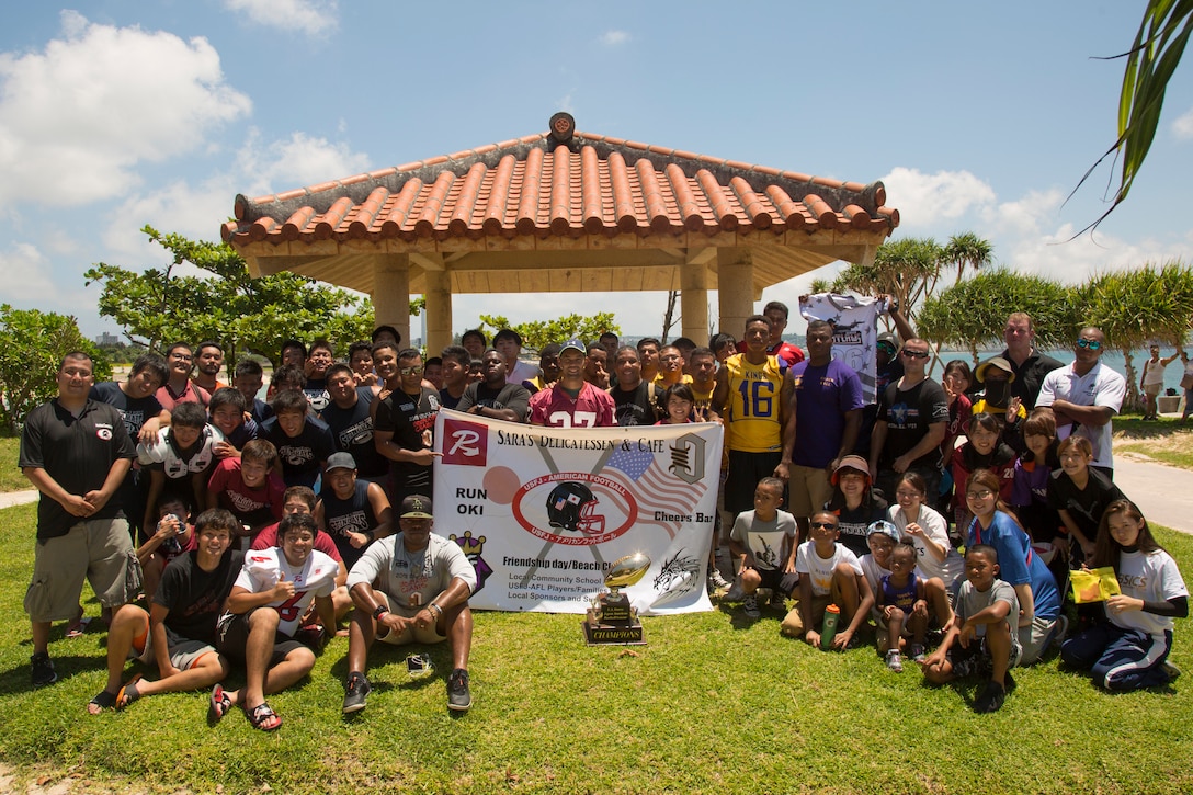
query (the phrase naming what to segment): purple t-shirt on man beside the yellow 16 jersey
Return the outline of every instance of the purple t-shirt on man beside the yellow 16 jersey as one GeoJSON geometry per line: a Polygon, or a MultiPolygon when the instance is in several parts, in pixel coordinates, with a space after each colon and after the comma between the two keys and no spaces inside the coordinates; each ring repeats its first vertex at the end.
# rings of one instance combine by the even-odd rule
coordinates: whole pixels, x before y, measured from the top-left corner
{"type": "MultiPolygon", "coordinates": [[[[792,463],[801,467],[827,467],[841,448],[845,414],[865,405],[861,378],[845,362],[828,364],[801,362],[791,368],[796,393],[796,446],[792,463]],[[799,429],[814,429],[801,433],[799,429]]],[[[859,420],[860,421],[860,420],[859,420]]]]}

